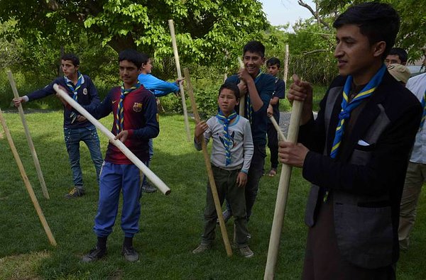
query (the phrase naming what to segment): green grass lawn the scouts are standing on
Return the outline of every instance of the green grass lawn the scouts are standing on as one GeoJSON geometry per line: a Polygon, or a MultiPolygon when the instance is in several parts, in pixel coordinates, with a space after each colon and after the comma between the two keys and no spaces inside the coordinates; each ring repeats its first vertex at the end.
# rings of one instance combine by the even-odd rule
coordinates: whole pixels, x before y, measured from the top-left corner
{"type": "MultiPolygon", "coordinates": [[[[154,140],[151,168],[172,192],[164,196],[157,191],[143,194],[141,198],[141,232],[134,240],[140,261],[129,264],[121,257],[124,237],[119,217],[108,240],[107,257],[82,264],[82,255],[96,242],[92,227],[98,196],[87,147],[81,145],[87,194],[67,200],[64,194],[72,186],[72,175],[63,142],[62,111],[26,115],[50,194],[50,200],[46,200],[18,114],[4,113],[4,117],[58,246],[52,247],[48,242],[4,137],[0,140],[0,279],[263,279],[279,175],[261,179],[249,223],[253,258],[244,259],[237,254],[226,257],[219,228],[213,250],[193,255],[191,251],[197,247],[202,233],[207,182],[202,152],[197,152],[192,142],[186,141],[182,116],[160,116],[160,135],[154,140]]],[[[111,121],[109,116],[102,123],[110,128],[111,121]]],[[[100,137],[104,154],[107,138],[100,137]]],[[[268,169],[269,157],[266,162],[268,169]]],[[[307,232],[303,214],[308,189],[300,169],[295,169],[276,279],[300,279],[307,232]]],[[[401,255],[398,263],[398,279],[426,279],[426,261],[422,255],[426,248],[425,218],[423,192],[410,250],[401,255]]],[[[230,238],[232,228],[229,223],[230,238]]]]}

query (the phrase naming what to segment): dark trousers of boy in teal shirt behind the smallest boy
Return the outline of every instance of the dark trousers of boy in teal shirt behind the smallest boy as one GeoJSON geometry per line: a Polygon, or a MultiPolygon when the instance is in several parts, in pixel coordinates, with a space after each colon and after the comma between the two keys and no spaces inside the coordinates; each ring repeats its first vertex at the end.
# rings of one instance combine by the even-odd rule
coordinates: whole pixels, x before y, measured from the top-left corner
{"type": "MultiPolygon", "coordinates": [[[[259,189],[259,181],[263,174],[263,164],[265,164],[266,148],[264,145],[254,145],[253,157],[251,158],[251,164],[249,174],[247,174],[246,184],[246,211],[247,220],[251,216],[251,208],[253,208],[254,201],[259,189]]],[[[227,198],[226,198],[227,201],[227,198]]],[[[232,213],[231,206],[228,201],[226,202],[226,208],[232,213]]],[[[234,215],[234,213],[232,213],[234,215]]]]}

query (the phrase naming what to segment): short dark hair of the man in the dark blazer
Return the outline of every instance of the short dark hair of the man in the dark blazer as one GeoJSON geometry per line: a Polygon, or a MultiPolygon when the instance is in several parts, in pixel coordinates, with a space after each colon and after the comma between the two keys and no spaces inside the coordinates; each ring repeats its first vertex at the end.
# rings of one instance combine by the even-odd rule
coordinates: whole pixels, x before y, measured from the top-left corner
{"type": "Polygon", "coordinates": [[[350,6],[337,17],[333,27],[340,28],[345,24],[358,26],[361,34],[368,38],[370,45],[385,41],[386,48],[382,56],[382,60],[384,60],[395,44],[400,27],[400,17],[389,4],[368,2],[350,6]]]}

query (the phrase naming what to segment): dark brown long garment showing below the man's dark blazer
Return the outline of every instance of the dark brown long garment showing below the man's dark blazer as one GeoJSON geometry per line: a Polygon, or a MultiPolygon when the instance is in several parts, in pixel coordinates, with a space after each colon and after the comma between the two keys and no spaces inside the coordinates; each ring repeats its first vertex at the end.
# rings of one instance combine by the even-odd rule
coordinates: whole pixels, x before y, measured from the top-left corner
{"type": "Polygon", "coordinates": [[[393,266],[366,269],[346,261],[339,252],[334,233],[332,194],[321,203],[315,225],[307,233],[303,280],[394,280],[393,266]]]}

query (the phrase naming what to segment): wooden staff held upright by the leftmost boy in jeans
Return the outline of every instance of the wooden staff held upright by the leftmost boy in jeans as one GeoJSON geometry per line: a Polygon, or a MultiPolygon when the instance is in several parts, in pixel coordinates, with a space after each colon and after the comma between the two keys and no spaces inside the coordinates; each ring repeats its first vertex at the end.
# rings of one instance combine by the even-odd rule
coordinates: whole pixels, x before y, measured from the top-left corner
{"type": "MultiPolygon", "coordinates": [[[[13,75],[11,71],[7,71],[7,77],[9,78],[9,83],[11,84],[11,87],[12,87],[13,96],[15,96],[16,99],[18,99],[19,98],[18,89],[16,89],[15,79],[13,79],[13,75]]],[[[40,162],[38,161],[37,152],[35,152],[33,139],[31,138],[30,130],[28,129],[28,125],[26,123],[25,115],[23,114],[23,108],[21,104],[19,104],[18,111],[19,111],[19,115],[21,116],[23,130],[25,130],[28,146],[30,147],[31,155],[33,156],[35,170],[37,171],[38,181],[40,181],[41,190],[43,191],[43,196],[49,199],[48,188],[46,187],[46,183],[44,181],[43,172],[41,172],[40,162]]]]}

